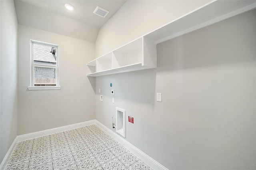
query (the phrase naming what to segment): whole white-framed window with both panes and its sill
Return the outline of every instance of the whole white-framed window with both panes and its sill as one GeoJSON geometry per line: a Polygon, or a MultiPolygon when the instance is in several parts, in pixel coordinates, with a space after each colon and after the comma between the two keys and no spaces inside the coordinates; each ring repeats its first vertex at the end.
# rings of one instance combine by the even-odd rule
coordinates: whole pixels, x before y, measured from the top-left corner
{"type": "Polygon", "coordinates": [[[58,45],[30,40],[31,79],[29,90],[60,89],[58,45]]]}

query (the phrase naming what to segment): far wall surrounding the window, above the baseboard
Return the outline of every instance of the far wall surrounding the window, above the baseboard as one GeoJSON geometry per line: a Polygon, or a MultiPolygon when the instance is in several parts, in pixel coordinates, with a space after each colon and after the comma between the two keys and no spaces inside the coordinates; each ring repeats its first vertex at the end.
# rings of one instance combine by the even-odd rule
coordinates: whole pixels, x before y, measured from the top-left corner
{"type": "Polygon", "coordinates": [[[95,44],[18,25],[18,135],[95,119],[95,44]],[[59,45],[60,90],[29,91],[30,39],[59,45]]]}

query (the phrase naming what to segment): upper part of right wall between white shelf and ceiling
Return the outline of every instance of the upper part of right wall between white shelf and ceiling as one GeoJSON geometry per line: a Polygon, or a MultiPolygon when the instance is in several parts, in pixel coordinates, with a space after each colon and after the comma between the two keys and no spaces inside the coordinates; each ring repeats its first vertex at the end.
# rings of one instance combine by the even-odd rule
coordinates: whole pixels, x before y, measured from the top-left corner
{"type": "Polygon", "coordinates": [[[100,28],[95,54],[100,57],[163,25],[206,5],[211,0],[128,0],[100,28]]]}

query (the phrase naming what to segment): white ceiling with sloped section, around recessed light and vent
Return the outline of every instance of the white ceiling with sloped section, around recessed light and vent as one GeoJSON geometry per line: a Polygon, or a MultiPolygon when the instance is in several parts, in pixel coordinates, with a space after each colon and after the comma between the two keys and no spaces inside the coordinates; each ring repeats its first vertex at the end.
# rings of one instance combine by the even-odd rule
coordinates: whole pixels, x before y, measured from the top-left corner
{"type": "Polygon", "coordinates": [[[127,0],[14,0],[18,24],[96,42],[100,28],[127,0]],[[74,11],[64,5],[71,4],[74,11]],[[102,18],[97,6],[109,11],[102,18]]]}

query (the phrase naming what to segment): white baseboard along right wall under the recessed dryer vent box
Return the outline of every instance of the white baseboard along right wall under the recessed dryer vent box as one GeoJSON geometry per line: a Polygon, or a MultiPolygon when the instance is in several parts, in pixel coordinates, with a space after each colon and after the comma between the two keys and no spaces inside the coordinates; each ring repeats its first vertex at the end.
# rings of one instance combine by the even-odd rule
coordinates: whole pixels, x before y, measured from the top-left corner
{"type": "Polygon", "coordinates": [[[168,170],[166,167],[162,166],[162,164],[160,164],[159,162],[157,162],[156,160],[154,160],[153,158],[151,158],[150,156],[148,156],[147,154],[145,154],[144,152],[136,148],[130,142],[127,142],[127,140],[125,140],[124,138],[122,138],[121,136],[119,136],[118,134],[116,134],[115,132],[113,132],[112,130],[110,130],[109,128],[107,128],[105,125],[103,125],[97,120],[96,120],[96,125],[102,128],[102,130],[104,130],[106,133],[112,136],[112,138],[120,142],[125,148],[130,150],[134,155],[136,155],[138,158],[140,158],[143,162],[148,164],[148,166],[150,166],[154,170],[168,170]]]}

